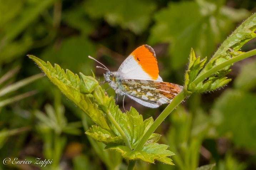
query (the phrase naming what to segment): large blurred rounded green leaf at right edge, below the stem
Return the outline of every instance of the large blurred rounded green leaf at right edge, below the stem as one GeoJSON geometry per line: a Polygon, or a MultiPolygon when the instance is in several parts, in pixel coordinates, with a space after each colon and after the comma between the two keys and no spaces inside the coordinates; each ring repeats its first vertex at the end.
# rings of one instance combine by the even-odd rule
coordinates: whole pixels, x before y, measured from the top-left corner
{"type": "Polygon", "coordinates": [[[214,103],[212,118],[221,136],[232,138],[236,147],[256,150],[256,96],[226,90],[214,103]]]}

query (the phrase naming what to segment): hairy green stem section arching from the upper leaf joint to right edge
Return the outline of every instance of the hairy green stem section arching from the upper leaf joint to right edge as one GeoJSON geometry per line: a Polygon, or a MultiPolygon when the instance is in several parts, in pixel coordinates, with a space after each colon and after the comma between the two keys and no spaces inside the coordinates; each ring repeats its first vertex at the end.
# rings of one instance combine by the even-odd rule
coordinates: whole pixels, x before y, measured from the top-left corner
{"type": "Polygon", "coordinates": [[[198,84],[200,83],[201,81],[204,81],[207,77],[211,76],[212,74],[214,74],[216,71],[219,71],[225,67],[227,67],[228,65],[230,64],[233,64],[233,63],[236,63],[236,62],[239,62],[240,60],[242,59],[245,59],[247,57],[251,57],[253,55],[256,55],[256,49],[253,49],[251,51],[248,51],[246,53],[242,53],[240,55],[237,55],[236,57],[233,57],[229,60],[226,60],[225,62],[219,64],[219,65],[216,65],[214,67],[212,67],[210,70],[206,71],[204,74],[202,75],[199,75],[194,81],[193,83],[194,84],[198,84]]]}

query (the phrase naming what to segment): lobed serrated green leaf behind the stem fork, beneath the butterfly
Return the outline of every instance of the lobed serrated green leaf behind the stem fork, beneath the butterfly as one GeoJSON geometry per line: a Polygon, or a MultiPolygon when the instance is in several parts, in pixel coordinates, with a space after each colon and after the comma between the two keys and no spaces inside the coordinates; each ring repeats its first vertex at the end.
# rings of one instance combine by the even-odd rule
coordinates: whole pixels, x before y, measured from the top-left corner
{"type": "MultiPolygon", "coordinates": [[[[101,107],[104,106],[101,105],[101,107]]],[[[116,122],[120,125],[126,136],[129,138],[131,147],[135,148],[141,137],[146,133],[147,129],[153,123],[152,117],[143,121],[142,116],[139,115],[139,113],[132,107],[130,112],[127,111],[126,113],[122,113],[120,109],[114,105],[114,100],[112,99],[110,100],[110,105],[108,108],[110,108],[111,115],[115,118],[116,122]]],[[[101,109],[104,110],[107,108],[101,109]]],[[[114,124],[109,119],[107,119],[107,122],[109,123],[112,132],[106,131],[100,127],[94,127],[90,128],[86,134],[107,145],[113,143],[123,144],[124,140],[121,138],[114,124]]],[[[160,137],[160,134],[153,133],[147,140],[146,144],[155,143],[160,139],[160,137]]]]}

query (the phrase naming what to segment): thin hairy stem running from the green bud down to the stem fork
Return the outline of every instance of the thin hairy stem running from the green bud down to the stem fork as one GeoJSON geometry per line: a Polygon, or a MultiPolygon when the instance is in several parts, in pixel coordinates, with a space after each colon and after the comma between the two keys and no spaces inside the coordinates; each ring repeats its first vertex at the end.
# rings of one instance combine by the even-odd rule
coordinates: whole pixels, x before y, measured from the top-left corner
{"type": "MultiPolygon", "coordinates": [[[[99,102],[102,105],[104,105],[102,100],[100,99],[99,95],[95,91],[92,94],[95,97],[95,99],[97,100],[97,102],[99,102]]],[[[110,121],[114,124],[115,128],[117,129],[117,131],[120,133],[122,139],[125,142],[125,145],[131,149],[131,145],[130,145],[128,137],[126,136],[126,134],[123,131],[123,129],[116,122],[115,118],[111,115],[111,112],[109,111],[109,109],[107,107],[104,107],[103,111],[104,111],[104,113],[106,113],[106,116],[110,119],[110,121]]]]}

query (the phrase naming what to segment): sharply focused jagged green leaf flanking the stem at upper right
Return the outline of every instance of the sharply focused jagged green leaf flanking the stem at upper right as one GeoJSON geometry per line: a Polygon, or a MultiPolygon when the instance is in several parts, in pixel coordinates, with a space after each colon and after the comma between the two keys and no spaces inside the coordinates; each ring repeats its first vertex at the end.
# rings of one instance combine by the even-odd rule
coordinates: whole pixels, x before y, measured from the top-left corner
{"type": "MultiPolygon", "coordinates": [[[[204,92],[204,91],[212,91],[219,87],[222,87],[229,83],[231,79],[227,79],[224,77],[226,74],[230,73],[230,65],[226,66],[225,68],[216,71],[215,73],[211,74],[208,78],[206,77],[205,80],[201,82],[196,82],[197,77],[200,77],[207,73],[213,67],[226,62],[227,60],[231,59],[232,57],[236,57],[237,55],[242,54],[243,52],[238,51],[246,42],[251,40],[252,38],[256,37],[254,31],[256,30],[256,14],[253,14],[247,20],[245,20],[230,36],[227,38],[224,43],[220,46],[214,56],[211,58],[209,63],[202,69],[199,73],[197,69],[197,65],[199,59],[195,57],[194,52],[191,51],[190,54],[190,64],[189,69],[185,75],[185,89],[189,90],[190,92],[204,92]],[[194,68],[193,68],[194,67],[194,68]],[[196,73],[199,73],[198,75],[196,73]],[[194,81],[195,80],[195,81],[194,81]],[[192,82],[193,81],[193,82],[192,82]]],[[[203,67],[203,63],[202,63],[203,67]]],[[[199,65],[199,68],[202,68],[199,65]]],[[[211,73],[211,72],[210,72],[211,73]]]]}

